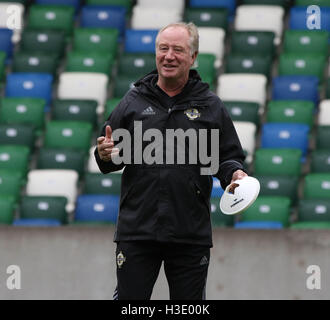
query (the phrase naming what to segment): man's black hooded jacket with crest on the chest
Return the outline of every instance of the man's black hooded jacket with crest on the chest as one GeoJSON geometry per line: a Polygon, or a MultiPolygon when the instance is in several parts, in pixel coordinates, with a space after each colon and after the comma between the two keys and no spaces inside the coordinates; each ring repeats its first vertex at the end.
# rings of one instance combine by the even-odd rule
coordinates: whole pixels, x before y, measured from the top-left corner
{"type": "MultiPolygon", "coordinates": [[[[101,135],[108,124],[113,131],[125,128],[131,133],[133,144],[134,121],[142,121],[143,133],[152,128],[163,134],[165,129],[207,129],[210,152],[211,129],[218,129],[219,170],[214,176],[225,188],[232,173],[243,169],[244,153],[221,100],[201,82],[196,71],[190,71],[185,88],[173,98],[156,85],[157,79],[157,72],[153,71],[137,81],[135,88],[110,114],[101,135]]],[[[148,144],[150,142],[143,142],[143,150],[148,144]]],[[[165,143],[161,148],[165,159],[165,143]]],[[[185,140],[185,154],[188,159],[188,139],[185,140]]],[[[103,173],[124,167],[124,164],[102,161],[97,149],[95,158],[103,173]]],[[[199,161],[195,164],[178,164],[177,161],[175,164],[133,164],[133,147],[131,159],[132,164],[126,164],[122,176],[115,241],[156,240],[212,246],[212,176],[200,174],[203,165],[199,161]]]]}

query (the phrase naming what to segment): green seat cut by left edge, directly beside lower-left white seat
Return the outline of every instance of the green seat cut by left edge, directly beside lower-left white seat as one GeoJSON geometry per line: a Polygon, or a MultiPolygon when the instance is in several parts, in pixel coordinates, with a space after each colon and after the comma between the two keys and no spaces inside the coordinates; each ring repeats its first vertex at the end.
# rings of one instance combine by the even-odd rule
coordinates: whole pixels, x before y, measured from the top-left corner
{"type": "MultiPolygon", "coordinates": [[[[0,170],[0,196],[13,198],[15,203],[21,196],[24,180],[18,171],[0,170]]],[[[1,211],[0,211],[1,212],[1,211]]]]}

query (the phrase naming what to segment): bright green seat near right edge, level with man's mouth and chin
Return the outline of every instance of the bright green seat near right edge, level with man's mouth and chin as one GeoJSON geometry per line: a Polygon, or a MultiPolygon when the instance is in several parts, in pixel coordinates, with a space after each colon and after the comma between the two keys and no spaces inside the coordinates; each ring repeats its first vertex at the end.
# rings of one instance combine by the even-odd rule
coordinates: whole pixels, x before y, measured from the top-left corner
{"type": "Polygon", "coordinates": [[[279,58],[279,75],[316,76],[323,80],[326,56],[311,53],[282,53],[279,58]]]}

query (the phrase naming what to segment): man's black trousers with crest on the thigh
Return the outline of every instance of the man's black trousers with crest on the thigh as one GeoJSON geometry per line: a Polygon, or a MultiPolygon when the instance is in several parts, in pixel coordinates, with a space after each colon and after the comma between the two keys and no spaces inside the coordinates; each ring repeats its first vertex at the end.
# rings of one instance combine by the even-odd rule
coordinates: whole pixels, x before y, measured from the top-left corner
{"type": "Polygon", "coordinates": [[[164,262],[171,300],[205,299],[210,248],[205,246],[122,241],[117,243],[114,299],[149,300],[164,262]]]}

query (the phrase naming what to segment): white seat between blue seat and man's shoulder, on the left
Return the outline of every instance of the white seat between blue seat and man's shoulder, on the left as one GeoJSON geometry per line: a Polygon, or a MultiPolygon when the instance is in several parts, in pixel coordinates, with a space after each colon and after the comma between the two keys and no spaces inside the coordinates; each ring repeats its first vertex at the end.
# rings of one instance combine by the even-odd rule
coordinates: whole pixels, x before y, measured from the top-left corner
{"type": "Polygon", "coordinates": [[[93,72],[62,72],[59,76],[58,99],[96,100],[97,112],[103,113],[107,98],[108,76],[93,72]]]}

